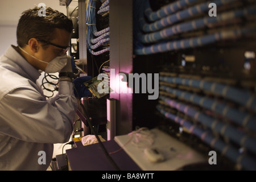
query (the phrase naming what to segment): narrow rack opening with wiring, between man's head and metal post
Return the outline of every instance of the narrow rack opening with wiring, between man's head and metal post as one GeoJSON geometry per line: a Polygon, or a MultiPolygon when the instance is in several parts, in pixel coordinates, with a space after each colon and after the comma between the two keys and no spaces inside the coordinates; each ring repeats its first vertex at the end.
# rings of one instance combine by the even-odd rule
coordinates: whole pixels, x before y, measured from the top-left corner
{"type": "Polygon", "coordinates": [[[86,44],[88,49],[88,67],[92,68],[88,74],[97,76],[102,71],[100,65],[109,60],[109,10],[105,7],[109,1],[86,1],[86,44]],[[97,13],[102,10],[102,13],[97,13]],[[104,12],[103,12],[104,11],[104,12]]]}

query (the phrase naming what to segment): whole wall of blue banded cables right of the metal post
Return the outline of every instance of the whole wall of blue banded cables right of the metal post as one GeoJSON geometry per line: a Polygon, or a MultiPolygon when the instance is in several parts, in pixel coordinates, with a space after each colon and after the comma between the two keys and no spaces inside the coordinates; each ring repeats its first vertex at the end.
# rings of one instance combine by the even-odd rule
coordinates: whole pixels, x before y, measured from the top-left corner
{"type": "MultiPolygon", "coordinates": [[[[133,1],[133,48],[136,70],[159,72],[160,125],[181,138],[177,124],[234,166],[255,170],[255,1],[158,3],[133,1]],[[217,16],[208,14],[209,3],[217,16]]],[[[142,114],[139,102],[134,113],[142,114]]]]}

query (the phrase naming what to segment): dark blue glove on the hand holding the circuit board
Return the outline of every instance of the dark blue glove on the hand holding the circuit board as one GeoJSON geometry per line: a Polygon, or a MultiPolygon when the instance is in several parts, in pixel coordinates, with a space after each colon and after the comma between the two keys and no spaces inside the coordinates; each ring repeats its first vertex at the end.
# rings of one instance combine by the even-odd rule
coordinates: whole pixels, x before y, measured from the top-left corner
{"type": "Polygon", "coordinates": [[[92,80],[92,77],[81,76],[73,80],[75,85],[74,93],[77,98],[92,96],[92,93],[88,90],[88,87],[84,85],[84,82],[88,80],[92,80]]]}

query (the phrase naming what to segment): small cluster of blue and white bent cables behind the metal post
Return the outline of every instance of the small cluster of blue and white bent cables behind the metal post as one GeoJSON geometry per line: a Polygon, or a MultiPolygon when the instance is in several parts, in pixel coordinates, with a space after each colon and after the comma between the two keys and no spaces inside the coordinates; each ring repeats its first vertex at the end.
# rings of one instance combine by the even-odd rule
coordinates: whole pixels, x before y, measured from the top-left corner
{"type": "MultiPolygon", "coordinates": [[[[106,2],[107,1],[103,2],[103,4],[106,4],[106,2]]],[[[98,50],[96,52],[94,51],[100,46],[108,45],[110,40],[109,27],[105,28],[104,30],[97,31],[95,0],[88,1],[88,5],[86,8],[86,25],[87,25],[86,39],[87,39],[87,47],[89,49],[89,52],[92,53],[92,55],[100,55],[104,52],[108,52],[110,50],[109,46],[101,50],[98,50]]]]}

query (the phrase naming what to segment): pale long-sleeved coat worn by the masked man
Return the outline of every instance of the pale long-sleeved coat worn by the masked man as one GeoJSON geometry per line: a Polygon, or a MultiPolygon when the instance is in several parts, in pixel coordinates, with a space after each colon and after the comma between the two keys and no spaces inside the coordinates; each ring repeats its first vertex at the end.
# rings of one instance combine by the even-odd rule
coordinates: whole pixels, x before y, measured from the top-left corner
{"type": "Polygon", "coordinates": [[[78,105],[72,82],[61,81],[59,94],[47,100],[39,76],[13,46],[0,57],[0,170],[46,170],[53,143],[72,134],[78,105]]]}

